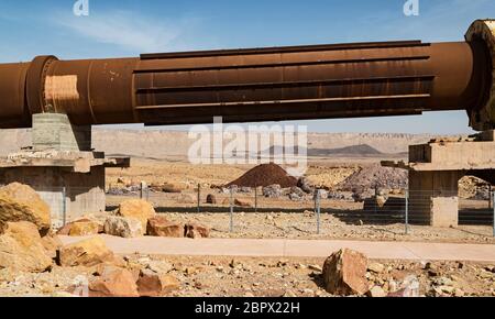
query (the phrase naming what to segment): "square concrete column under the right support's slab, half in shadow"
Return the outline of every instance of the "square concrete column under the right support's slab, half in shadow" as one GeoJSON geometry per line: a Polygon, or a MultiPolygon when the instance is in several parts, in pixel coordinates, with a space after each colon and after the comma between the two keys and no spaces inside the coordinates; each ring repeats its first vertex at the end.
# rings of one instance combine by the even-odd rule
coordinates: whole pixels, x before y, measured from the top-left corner
{"type": "Polygon", "coordinates": [[[459,223],[459,170],[409,170],[409,215],[414,223],[453,227],[459,223]]]}

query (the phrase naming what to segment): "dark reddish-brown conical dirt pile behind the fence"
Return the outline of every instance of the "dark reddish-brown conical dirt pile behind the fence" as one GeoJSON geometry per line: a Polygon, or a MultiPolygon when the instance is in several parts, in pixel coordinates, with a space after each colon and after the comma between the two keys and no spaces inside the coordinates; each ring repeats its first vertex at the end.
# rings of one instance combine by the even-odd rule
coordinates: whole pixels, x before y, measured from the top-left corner
{"type": "Polygon", "coordinates": [[[297,186],[297,178],[288,175],[280,166],[271,163],[254,167],[240,178],[229,183],[227,187],[232,185],[239,187],[265,187],[275,184],[280,185],[282,188],[294,187],[297,186]]]}

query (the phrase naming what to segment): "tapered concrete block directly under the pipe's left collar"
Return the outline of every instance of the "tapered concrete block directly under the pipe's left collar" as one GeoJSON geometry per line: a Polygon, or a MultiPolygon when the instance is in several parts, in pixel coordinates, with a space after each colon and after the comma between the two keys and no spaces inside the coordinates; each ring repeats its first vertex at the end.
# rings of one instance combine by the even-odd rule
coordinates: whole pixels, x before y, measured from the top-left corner
{"type": "Polygon", "coordinates": [[[34,151],[91,151],[91,127],[75,127],[66,114],[33,116],[34,151]]]}

